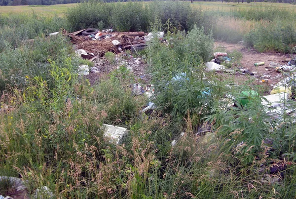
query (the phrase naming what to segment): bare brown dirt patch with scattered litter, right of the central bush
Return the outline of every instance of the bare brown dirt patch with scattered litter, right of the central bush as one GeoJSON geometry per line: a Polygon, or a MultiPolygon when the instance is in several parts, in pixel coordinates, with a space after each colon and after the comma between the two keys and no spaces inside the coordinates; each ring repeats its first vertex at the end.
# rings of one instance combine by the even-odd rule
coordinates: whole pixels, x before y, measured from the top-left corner
{"type": "MultiPolygon", "coordinates": [[[[240,67],[243,69],[248,69],[251,72],[258,72],[258,76],[268,75],[271,76],[268,78],[269,84],[276,84],[279,82],[283,76],[281,73],[277,72],[273,68],[268,67],[270,62],[275,62],[280,65],[286,64],[291,60],[291,55],[283,53],[259,53],[254,49],[247,49],[243,44],[240,43],[226,43],[226,42],[215,42],[215,48],[224,48],[226,52],[232,52],[236,50],[242,53],[242,59],[240,61],[240,67]],[[257,62],[264,62],[263,66],[254,66],[257,62]]],[[[247,80],[246,75],[235,75],[237,80],[247,80]]],[[[266,79],[266,78],[263,78],[266,79]]]]}

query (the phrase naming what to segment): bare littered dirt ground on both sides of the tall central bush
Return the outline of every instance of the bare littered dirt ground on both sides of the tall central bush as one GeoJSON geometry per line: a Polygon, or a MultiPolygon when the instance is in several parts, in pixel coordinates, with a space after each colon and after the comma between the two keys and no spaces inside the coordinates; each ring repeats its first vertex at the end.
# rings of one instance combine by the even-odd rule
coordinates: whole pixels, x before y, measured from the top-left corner
{"type": "MultiPolygon", "coordinates": [[[[234,50],[242,53],[242,59],[239,62],[238,68],[248,69],[250,72],[258,72],[254,77],[260,78],[260,76],[268,75],[270,78],[261,78],[262,80],[268,80],[269,85],[274,85],[279,82],[284,77],[281,73],[276,72],[273,68],[265,68],[269,65],[270,62],[275,62],[280,65],[284,65],[289,60],[291,60],[291,55],[283,54],[283,53],[259,53],[253,49],[247,49],[243,44],[233,44],[226,42],[215,42],[215,48],[224,48],[226,52],[232,52],[234,50]],[[264,62],[265,65],[256,67],[254,63],[264,62]]],[[[123,59],[123,55],[116,55],[116,63],[110,64],[106,59],[102,58],[100,63],[96,63],[95,67],[100,71],[99,73],[90,73],[85,78],[89,79],[90,84],[93,85],[100,79],[102,75],[108,74],[114,69],[116,69],[116,65],[121,65],[124,61],[124,65],[130,67],[130,70],[134,73],[136,78],[142,79],[144,81],[148,81],[148,74],[146,73],[147,65],[144,63],[142,59],[139,62],[136,62],[136,58],[130,58],[128,60],[123,59]],[[118,61],[119,60],[119,61],[118,61]]],[[[228,76],[229,74],[223,74],[228,76]]],[[[234,80],[236,83],[242,83],[249,79],[248,75],[244,74],[235,74],[234,80]]],[[[148,83],[148,82],[147,82],[148,83]]]]}

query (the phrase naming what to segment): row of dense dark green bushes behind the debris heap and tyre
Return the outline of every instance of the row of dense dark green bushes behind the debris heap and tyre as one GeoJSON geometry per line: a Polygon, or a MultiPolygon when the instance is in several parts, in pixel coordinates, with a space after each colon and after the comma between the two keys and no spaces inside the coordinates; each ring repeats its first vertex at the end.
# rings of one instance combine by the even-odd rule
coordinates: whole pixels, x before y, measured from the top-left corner
{"type": "Polygon", "coordinates": [[[74,30],[113,27],[116,31],[148,31],[150,23],[165,24],[168,19],[180,30],[191,30],[194,24],[206,27],[201,10],[181,1],[83,2],[68,10],[67,19],[74,30]]]}

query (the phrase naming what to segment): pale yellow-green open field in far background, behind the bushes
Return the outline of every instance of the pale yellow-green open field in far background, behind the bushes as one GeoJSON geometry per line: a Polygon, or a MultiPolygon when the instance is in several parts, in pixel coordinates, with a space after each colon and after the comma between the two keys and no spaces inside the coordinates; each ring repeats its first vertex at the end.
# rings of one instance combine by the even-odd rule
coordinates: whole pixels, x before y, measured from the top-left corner
{"type": "MultiPolygon", "coordinates": [[[[188,2],[191,4],[190,2],[188,2]]],[[[20,14],[26,13],[30,14],[33,11],[38,15],[47,16],[63,16],[69,7],[73,7],[75,3],[70,4],[59,4],[59,5],[18,5],[18,6],[0,6],[0,13],[3,15],[20,14]]],[[[296,5],[288,3],[265,3],[265,2],[254,2],[252,3],[233,3],[233,2],[210,2],[210,1],[198,1],[193,2],[192,6],[196,8],[201,8],[202,10],[219,10],[219,11],[231,11],[234,9],[250,9],[254,7],[262,8],[278,8],[285,9],[287,11],[296,11],[296,5]]]]}

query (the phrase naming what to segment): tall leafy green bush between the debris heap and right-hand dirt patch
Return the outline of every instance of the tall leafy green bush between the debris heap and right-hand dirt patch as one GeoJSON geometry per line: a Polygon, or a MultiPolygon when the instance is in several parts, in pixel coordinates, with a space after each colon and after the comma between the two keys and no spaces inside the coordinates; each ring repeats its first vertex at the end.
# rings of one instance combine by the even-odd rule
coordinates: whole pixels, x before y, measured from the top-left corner
{"type": "Polygon", "coordinates": [[[167,38],[168,46],[154,40],[148,52],[156,104],[173,115],[185,115],[210,103],[210,84],[202,80],[202,63],[210,58],[213,40],[196,27],[188,35],[179,32],[167,38]]]}

